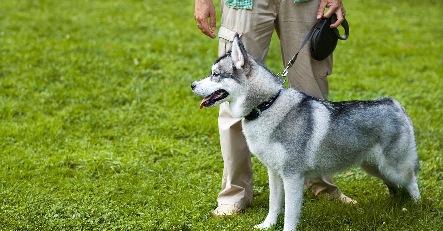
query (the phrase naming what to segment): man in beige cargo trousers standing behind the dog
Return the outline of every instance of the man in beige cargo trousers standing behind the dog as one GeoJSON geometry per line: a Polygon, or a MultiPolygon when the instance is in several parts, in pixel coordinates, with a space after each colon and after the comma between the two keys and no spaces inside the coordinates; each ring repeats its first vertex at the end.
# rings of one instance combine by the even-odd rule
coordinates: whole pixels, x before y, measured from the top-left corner
{"type": "MultiPolygon", "coordinates": [[[[337,14],[338,20],[331,27],[338,27],[346,14],[341,0],[222,0],[218,55],[222,56],[230,50],[237,32],[246,51],[264,63],[275,29],[280,38],[281,55],[286,67],[315,22],[322,16],[329,18],[333,13],[337,14]],[[323,15],[326,7],[329,10],[323,15]]],[[[212,0],[195,0],[194,16],[198,28],[214,39],[216,20],[212,0]]],[[[289,86],[315,98],[327,99],[327,75],[332,72],[332,55],[323,61],[316,61],[311,58],[309,47],[308,42],[289,71],[289,86]]],[[[218,128],[225,166],[222,191],[218,195],[219,206],[213,214],[234,216],[252,202],[253,174],[251,156],[241,130],[241,119],[232,116],[228,102],[220,105],[218,128]]],[[[305,187],[311,187],[315,195],[329,195],[331,199],[356,203],[343,195],[330,177],[307,180],[305,187]]]]}

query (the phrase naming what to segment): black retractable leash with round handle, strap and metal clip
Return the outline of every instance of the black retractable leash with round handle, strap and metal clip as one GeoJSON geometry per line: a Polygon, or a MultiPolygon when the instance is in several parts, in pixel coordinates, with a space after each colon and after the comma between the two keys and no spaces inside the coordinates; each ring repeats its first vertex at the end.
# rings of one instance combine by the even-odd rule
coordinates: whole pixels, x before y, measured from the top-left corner
{"type": "MultiPolygon", "coordinates": [[[[341,23],[342,27],[345,28],[345,34],[343,36],[340,36],[340,32],[337,28],[330,28],[329,26],[332,23],[335,23],[337,21],[337,15],[333,14],[329,19],[321,18],[319,19],[314,26],[311,27],[311,30],[307,33],[305,39],[303,40],[302,45],[300,46],[299,51],[295,53],[294,56],[292,56],[291,60],[288,62],[288,66],[282,71],[277,74],[277,76],[284,77],[284,82],[286,82],[286,75],[288,75],[289,69],[294,65],[295,60],[297,59],[297,56],[299,55],[299,52],[302,50],[304,45],[309,41],[309,38],[311,38],[311,56],[315,60],[323,60],[326,59],[327,56],[329,56],[332,51],[334,51],[335,46],[337,46],[337,40],[346,40],[349,37],[349,25],[348,21],[346,19],[343,20],[341,23]],[[336,38],[331,37],[331,33],[334,31],[336,38]],[[324,37],[329,37],[324,39],[324,37]],[[331,44],[326,44],[325,41],[330,41],[332,39],[331,44]],[[321,44],[323,43],[323,44],[321,44]],[[323,47],[320,47],[322,46],[323,47]],[[327,46],[327,47],[324,47],[327,46]],[[320,49],[319,49],[320,48],[320,49]],[[323,48],[323,49],[322,49],[323,48]]],[[[334,36],[335,37],[335,36],[334,36]]]]}

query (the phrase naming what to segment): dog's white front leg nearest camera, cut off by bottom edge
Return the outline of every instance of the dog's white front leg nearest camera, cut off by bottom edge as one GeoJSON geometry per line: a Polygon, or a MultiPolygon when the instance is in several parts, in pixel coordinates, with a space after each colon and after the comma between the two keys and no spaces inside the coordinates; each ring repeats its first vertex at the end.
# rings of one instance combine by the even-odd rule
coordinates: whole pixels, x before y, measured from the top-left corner
{"type": "Polygon", "coordinates": [[[299,223],[303,203],[304,177],[300,174],[283,176],[284,184],[284,228],[283,231],[295,230],[299,223]]]}

